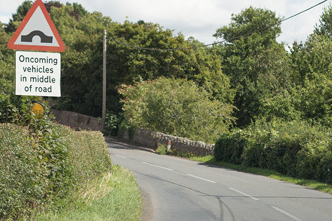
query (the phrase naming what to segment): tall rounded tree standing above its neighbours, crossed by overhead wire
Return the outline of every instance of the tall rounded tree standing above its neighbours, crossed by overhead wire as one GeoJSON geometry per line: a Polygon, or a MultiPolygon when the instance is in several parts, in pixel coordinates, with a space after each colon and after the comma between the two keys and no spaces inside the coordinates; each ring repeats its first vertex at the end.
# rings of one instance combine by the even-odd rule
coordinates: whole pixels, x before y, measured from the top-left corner
{"type": "Polygon", "coordinates": [[[274,12],[249,7],[239,15],[233,14],[231,19],[214,37],[229,39],[218,46],[218,51],[222,71],[230,77],[230,84],[236,90],[237,125],[242,127],[258,115],[265,97],[288,87],[290,61],[284,44],[276,41],[281,28],[280,24],[273,25],[280,21],[274,12]],[[251,32],[254,33],[247,35],[251,32]]]}

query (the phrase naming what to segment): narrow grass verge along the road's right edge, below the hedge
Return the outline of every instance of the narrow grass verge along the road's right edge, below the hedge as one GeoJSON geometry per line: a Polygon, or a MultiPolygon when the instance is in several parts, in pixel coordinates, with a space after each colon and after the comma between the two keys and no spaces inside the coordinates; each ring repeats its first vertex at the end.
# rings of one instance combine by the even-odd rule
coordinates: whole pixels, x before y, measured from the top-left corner
{"type": "Polygon", "coordinates": [[[254,167],[244,167],[242,165],[235,165],[235,164],[226,163],[223,161],[216,162],[214,156],[211,156],[211,155],[196,156],[192,153],[183,153],[183,152],[176,151],[176,150],[170,150],[167,154],[172,155],[172,156],[184,157],[184,158],[188,158],[190,160],[200,161],[200,162],[204,162],[204,163],[208,163],[208,164],[214,164],[214,165],[218,165],[218,166],[222,166],[222,167],[227,167],[227,168],[231,168],[231,169],[235,169],[235,170],[239,170],[239,171],[243,171],[243,172],[248,172],[248,173],[252,173],[252,174],[262,175],[262,176],[269,177],[272,179],[284,181],[284,182],[291,183],[291,184],[299,184],[302,186],[307,186],[307,187],[310,187],[310,188],[313,188],[313,189],[316,189],[316,190],[319,190],[322,192],[327,192],[327,193],[332,194],[332,185],[330,185],[330,184],[323,184],[323,183],[320,183],[320,182],[317,182],[314,180],[304,180],[304,179],[292,178],[292,177],[280,174],[273,170],[254,168],[254,167]]]}

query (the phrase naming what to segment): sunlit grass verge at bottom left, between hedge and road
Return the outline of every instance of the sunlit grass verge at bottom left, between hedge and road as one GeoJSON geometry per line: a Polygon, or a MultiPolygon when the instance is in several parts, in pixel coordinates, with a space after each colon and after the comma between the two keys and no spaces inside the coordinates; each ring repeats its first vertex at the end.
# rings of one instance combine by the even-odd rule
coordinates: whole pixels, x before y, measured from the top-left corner
{"type": "Polygon", "coordinates": [[[89,181],[75,204],[59,211],[34,214],[34,221],[139,221],[142,200],[134,176],[120,166],[89,181]]]}

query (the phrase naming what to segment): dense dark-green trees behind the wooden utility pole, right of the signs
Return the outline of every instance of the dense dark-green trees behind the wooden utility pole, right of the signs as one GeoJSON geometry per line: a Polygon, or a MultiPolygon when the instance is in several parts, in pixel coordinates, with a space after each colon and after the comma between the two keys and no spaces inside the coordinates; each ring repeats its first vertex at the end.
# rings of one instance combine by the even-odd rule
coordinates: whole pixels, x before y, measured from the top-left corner
{"type": "Polygon", "coordinates": [[[143,50],[145,48],[187,48],[202,45],[197,40],[163,30],[158,24],[138,21],[113,22],[99,12],[89,13],[80,5],[52,7],[51,18],[66,45],[62,53],[62,97],[56,109],[76,111],[91,116],[102,112],[102,33],[107,30],[107,109],[121,112],[119,85],[153,80],[159,76],[187,78],[206,87],[223,102],[232,102],[233,93],[225,91],[227,76],[221,73],[221,62],[215,53],[205,49],[175,51],[143,50]],[[71,11],[78,11],[76,19],[71,11]],[[124,44],[121,44],[117,41],[124,44]],[[225,85],[225,86],[224,86],[225,85]]]}

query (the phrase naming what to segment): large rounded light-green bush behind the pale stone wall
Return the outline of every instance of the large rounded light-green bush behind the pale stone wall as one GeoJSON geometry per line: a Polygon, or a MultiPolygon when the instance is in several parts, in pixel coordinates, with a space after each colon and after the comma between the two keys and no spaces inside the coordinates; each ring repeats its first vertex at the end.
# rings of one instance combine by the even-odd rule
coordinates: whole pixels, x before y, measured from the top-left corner
{"type": "Polygon", "coordinates": [[[191,140],[213,142],[232,125],[234,107],[210,100],[193,81],[159,78],[122,85],[123,127],[143,127],[191,140]]]}

